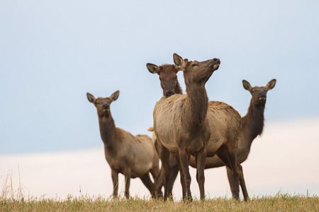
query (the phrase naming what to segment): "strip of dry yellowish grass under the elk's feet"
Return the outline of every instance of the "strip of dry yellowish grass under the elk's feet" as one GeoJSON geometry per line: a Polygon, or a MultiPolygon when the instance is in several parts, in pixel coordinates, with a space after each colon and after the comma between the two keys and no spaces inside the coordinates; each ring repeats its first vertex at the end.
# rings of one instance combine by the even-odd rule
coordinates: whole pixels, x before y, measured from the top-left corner
{"type": "Polygon", "coordinates": [[[0,197],[0,211],[319,211],[318,196],[257,196],[250,201],[206,199],[206,201],[167,201],[154,199],[104,199],[69,196],[56,199],[6,199],[0,197]]]}

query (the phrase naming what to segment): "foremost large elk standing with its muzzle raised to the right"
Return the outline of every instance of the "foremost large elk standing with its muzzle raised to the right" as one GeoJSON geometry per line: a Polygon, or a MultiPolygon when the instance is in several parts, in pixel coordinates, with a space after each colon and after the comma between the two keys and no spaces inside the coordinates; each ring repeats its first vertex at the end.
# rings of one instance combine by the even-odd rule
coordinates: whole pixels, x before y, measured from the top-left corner
{"type": "MultiPolygon", "coordinates": [[[[183,172],[186,170],[184,173],[181,172],[181,178],[184,177],[185,179],[187,199],[191,199],[189,189],[189,184],[191,182],[188,167],[189,157],[182,158],[181,155],[183,154],[181,154],[181,151],[184,151],[183,148],[185,148],[185,146],[186,149],[187,147],[189,149],[194,149],[194,146],[196,149],[199,143],[198,141],[201,141],[204,144],[208,143],[207,150],[204,149],[203,154],[192,153],[192,155],[197,156],[196,179],[200,187],[201,199],[203,199],[203,182],[205,178],[203,176],[203,167],[201,165],[206,159],[206,154],[208,154],[208,156],[217,154],[223,158],[224,163],[233,171],[235,181],[238,182],[238,180],[236,180],[238,179],[238,172],[235,152],[237,150],[237,140],[241,127],[240,114],[233,109],[233,107],[226,105],[223,102],[217,102],[216,104],[213,104],[212,102],[208,103],[208,97],[204,85],[206,81],[208,81],[208,78],[211,77],[213,71],[215,71],[216,68],[218,69],[220,64],[219,59],[212,59],[203,62],[187,61],[186,59],[181,59],[181,57],[177,54],[174,54],[174,63],[184,72],[187,95],[172,95],[166,99],[168,102],[167,105],[172,108],[171,111],[179,110],[177,114],[174,114],[174,112],[173,114],[169,114],[170,111],[165,108],[162,110],[163,108],[161,107],[165,107],[165,104],[159,104],[159,102],[162,100],[164,102],[165,97],[157,102],[154,110],[155,134],[164,147],[168,148],[169,151],[174,153],[174,155],[177,155],[177,153],[179,154],[179,158],[177,157],[177,159],[180,159],[180,170],[183,170],[183,172]],[[208,65],[209,62],[213,61],[217,61],[217,63],[208,65]],[[216,64],[218,64],[217,67],[215,67],[216,64]],[[174,100],[177,100],[177,104],[174,104],[176,103],[174,100]],[[180,104],[178,100],[184,100],[184,103],[180,104]],[[161,107],[158,107],[157,109],[157,106],[161,107]],[[159,117],[159,120],[157,120],[157,110],[160,110],[159,115],[161,117],[159,117]],[[167,113],[169,115],[167,115],[167,113]],[[176,119],[174,120],[176,122],[168,124],[168,127],[164,126],[164,122],[161,120],[164,116],[167,116],[168,119],[176,119]],[[159,125],[159,129],[157,129],[157,123],[159,125]],[[170,128],[169,125],[171,126],[170,128]],[[171,130],[170,134],[168,132],[165,134],[165,127],[167,128],[166,131],[171,130]],[[162,138],[159,137],[159,135],[162,136],[162,138]],[[169,138],[173,138],[171,140],[174,142],[169,142],[169,138]],[[205,158],[201,158],[203,155],[205,155],[205,158]]],[[[190,151],[186,150],[183,153],[190,154],[190,151]]],[[[169,163],[167,155],[166,157],[162,157],[162,155],[160,157],[164,165],[164,195],[166,195],[169,176],[167,170],[169,171],[169,163]],[[165,162],[163,159],[167,161],[165,162]]],[[[236,199],[239,197],[238,187],[239,186],[237,186],[237,196],[235,196],[236,199]]]]}

